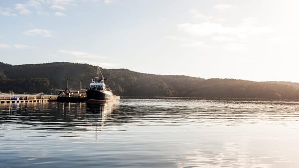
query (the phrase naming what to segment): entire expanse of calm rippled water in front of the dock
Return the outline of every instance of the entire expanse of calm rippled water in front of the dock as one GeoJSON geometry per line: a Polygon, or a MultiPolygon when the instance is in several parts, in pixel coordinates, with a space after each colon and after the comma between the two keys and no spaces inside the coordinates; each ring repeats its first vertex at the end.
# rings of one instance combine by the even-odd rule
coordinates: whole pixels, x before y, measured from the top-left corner
{"type": "Polygon", "coordinates": [[[299,102],[0,104],[0,168],[299,168],[299,102]]]}

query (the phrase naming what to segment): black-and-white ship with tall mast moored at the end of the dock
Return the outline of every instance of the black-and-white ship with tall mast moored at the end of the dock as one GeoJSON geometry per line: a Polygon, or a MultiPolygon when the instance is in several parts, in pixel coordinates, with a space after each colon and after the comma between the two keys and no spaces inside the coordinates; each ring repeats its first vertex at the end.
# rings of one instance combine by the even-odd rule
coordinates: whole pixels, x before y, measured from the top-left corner
{"type": "Polygon", "coordinates": [[[97,77],[92,79],[89,89],[86,89],[87,102],[107,102],[107,101],[120,101],[120,96],[114,95],[111,88],[106,86],[103,74],[100,67],[97,67],[97,77]],[[99,78],[99,73],[101,78],[99,78]]]}

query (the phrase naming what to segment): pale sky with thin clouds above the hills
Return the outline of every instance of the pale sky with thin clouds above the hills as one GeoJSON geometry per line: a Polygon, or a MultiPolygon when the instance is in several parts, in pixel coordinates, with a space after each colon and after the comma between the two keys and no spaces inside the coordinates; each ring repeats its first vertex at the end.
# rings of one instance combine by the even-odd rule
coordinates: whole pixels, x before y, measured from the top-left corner
{"type": "Polygon", "coordinates": [[[0,0],[0,62],[299,82],[298,0],[0,0]]]}

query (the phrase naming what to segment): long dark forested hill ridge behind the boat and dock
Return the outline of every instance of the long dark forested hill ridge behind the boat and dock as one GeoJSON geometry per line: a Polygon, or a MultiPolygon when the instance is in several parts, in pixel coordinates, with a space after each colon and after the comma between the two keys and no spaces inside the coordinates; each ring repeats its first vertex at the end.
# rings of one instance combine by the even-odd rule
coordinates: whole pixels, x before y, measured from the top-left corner
{"type": "MultiPolygon", "coordinates": [[[[0,63],[0,91],[52,93],[69,87],[88,87],[96,75],[88,64],[47,63],[12,66],[0,63]]],[[[103,69],[113,92],[126,96],[180,96],[212,98],[299,99],[297,83],[253,82],[234,79],[202,79],[188,76],[152,75],[127,69],[103,69]]]]}

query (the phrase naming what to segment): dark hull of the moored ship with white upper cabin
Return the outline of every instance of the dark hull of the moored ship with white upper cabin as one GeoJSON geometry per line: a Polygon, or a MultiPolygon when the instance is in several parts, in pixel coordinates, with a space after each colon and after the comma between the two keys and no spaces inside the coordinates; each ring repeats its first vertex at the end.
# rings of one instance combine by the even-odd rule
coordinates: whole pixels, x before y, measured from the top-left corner
{"type": "Polygon", "coordinates": [[[110,95],[98,89],[87,89],[86,98],[88,102],[106,102],[120,100],[120,96],[110,95]]]}

